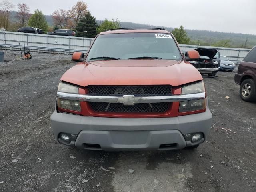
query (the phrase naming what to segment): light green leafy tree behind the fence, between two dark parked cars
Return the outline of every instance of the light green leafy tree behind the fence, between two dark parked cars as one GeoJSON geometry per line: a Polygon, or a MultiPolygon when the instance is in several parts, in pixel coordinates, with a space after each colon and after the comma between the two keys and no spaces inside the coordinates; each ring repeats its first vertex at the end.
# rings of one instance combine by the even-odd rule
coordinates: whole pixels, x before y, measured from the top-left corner
{"type": "Polygon", "coordinates": [[[28,25],[34,28],[42,29],[44,32],[48,30],[48,24],[41,10],[36,9],[28,20],[28,25]]]}

